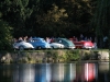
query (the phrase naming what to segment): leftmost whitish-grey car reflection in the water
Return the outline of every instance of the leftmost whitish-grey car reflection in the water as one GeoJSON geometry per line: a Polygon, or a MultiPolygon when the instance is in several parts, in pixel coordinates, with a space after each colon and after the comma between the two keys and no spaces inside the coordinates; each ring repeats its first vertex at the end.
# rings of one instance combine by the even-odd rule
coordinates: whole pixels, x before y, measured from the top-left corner
{"type": "Polygon", "coordinates": [[[36,82],[34,65],[15,65],[14,67],[11,82],[36,82]]]}

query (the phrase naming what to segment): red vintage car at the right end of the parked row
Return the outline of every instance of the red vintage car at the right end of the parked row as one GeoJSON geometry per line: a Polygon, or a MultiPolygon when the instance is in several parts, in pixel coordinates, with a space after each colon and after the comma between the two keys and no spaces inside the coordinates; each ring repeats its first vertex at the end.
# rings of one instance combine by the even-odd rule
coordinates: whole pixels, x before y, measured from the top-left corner
{"type": "Polygon", "coordinates": [[[95,45],[91,40],[80,40],[80,42],[74,42],[73,38],[70,40],[75,44],[76,48],[95,48],[95,45]]]}

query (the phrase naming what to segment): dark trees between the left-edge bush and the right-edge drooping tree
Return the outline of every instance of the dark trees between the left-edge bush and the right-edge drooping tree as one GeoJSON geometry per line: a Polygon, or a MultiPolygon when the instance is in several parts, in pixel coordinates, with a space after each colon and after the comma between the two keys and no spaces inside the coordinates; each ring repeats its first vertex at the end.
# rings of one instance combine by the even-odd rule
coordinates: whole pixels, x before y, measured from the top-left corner
{"type": "Polygon", "coordinates": [[[13,36],[73,36],[89,34],[92,0],[1,0],[0,15],[13,36]],[[19,34],[18,34],[19,33],[19,34]]]}

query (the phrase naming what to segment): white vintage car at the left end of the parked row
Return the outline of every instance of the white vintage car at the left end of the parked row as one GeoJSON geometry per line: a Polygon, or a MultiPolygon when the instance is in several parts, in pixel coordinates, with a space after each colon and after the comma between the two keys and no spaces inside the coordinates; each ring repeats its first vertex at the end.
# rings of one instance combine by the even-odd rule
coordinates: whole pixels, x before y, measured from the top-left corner
{"type": "Polygon", "coordinates": [[[13,44],[14,49],[24,50],[24,49],[34,49],[34,47],[24,40],[19,40],[13,44]]]}

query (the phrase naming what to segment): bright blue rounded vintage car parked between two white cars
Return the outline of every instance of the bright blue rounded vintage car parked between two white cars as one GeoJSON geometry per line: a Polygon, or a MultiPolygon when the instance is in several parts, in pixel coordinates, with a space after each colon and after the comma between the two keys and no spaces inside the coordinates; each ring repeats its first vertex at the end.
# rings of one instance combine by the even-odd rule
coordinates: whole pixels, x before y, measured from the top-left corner
{"type": "Polygon", "coordinates": [[[47,43],[44,38],[34,37],[29,40],[30,44],[34,46],[35,49],[47,49],[51,48],[50,43],[47,43]]]}

